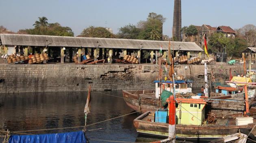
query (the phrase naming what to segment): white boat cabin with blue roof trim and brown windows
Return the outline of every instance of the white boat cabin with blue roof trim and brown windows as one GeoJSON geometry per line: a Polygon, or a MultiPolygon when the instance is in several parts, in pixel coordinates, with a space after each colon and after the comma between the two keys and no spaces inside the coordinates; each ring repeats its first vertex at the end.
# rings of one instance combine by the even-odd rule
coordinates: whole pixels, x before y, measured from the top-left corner
{"type": "MultiPolygon", "coordinates": [[[[156,98],[161,96],[163,90],[170,91],[174,93],[173,82],[170,80],[155,80],[154,83],[156,84],[156,98]],[[160,87],[161,83],[161,87],[160,87]]],[[[192,81],[189,80],[174,80],[175,86],[175,93],[185,94],[185,93],[192,93],[192,81]]]]}

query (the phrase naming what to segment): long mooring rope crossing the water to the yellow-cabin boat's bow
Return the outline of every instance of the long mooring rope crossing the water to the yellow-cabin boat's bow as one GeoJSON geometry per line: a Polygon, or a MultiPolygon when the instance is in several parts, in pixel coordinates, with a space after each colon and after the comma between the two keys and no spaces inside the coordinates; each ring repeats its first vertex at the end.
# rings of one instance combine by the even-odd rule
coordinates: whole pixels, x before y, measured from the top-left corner
{"type": "MultiPolygon", "coordinates": [[[[143,110],[140,110],[140,111],[143,111],[143,110]]],[[[96,123],[93,123],[93,124],[89,124],[89,125],[86,125],[86,126],[91,126],[91,125],[94,125],[94,124],[99,124],[99,123],[102,123],[102,122],[106,122],[106,121],[109,121],[109,120],[113,120],[113,119],[116,119],[116,118],[120,118],[120,117],[123,117],[123,116],[130,115],[130,114],[134,114],[134,113],[137,113],[137,112],[140,112],[140,111],[135,111],[135,112],[132,112],[132,113],[129,113],[129,114],[125,114],[125,115],[118,116],[118,117],[115,117],[115,118],[103,120],[103,121],[96,122],[96,123]]],[[[48,129],[39,129],[39,130],[21,130],[21,131],[15,131],[15,133],[19,133],[19,132],[34,132],[34,131],[43,131],[43,130],[59,130],[59,129],[67,129],[67,128],[82,128],[82,127],[85,127],[85,126],[74,126],[74,127],[63,127],[63,128],[48,128],[48,129]]],[[[6,131],[4,131],[4,132],[6,132],[6,131]]]]}

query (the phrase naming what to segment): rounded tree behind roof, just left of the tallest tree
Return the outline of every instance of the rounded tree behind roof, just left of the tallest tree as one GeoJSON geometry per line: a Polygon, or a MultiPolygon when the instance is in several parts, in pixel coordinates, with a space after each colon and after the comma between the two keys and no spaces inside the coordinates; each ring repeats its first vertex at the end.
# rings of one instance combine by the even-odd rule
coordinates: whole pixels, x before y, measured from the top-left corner
{"type": "Polygon", "coordinates": [[[140,32],[141,29],[137,28],[135,25],[128,24],[119,28],[117,37],[122,39],[138,39],[140,32]]]}

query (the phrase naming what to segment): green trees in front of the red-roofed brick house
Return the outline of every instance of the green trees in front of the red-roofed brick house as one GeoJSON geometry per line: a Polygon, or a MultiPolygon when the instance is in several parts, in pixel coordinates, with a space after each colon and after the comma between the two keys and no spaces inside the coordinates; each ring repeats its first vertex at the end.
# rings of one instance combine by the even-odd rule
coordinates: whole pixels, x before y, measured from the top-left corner
{"type": "Polygon", "coordinates": [[[247,47],[246,41],[241,38],[226,38],[222,33],[214,33],[208,41],[208,52],[226,52],[228,57],[241,57],[241,53],[247,47]]]}

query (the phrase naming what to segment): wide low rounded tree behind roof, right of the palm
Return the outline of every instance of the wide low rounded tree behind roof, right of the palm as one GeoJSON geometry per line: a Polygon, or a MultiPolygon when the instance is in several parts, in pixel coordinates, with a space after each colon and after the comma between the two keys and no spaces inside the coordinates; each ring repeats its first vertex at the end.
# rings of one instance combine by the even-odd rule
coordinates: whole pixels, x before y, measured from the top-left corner
{"type": "Polygon", "coordinates": [[[115,35],[109,32],[106,28],[93,26],[84,29],[80,36],[97,38],[115,38],[115,35]]]}

